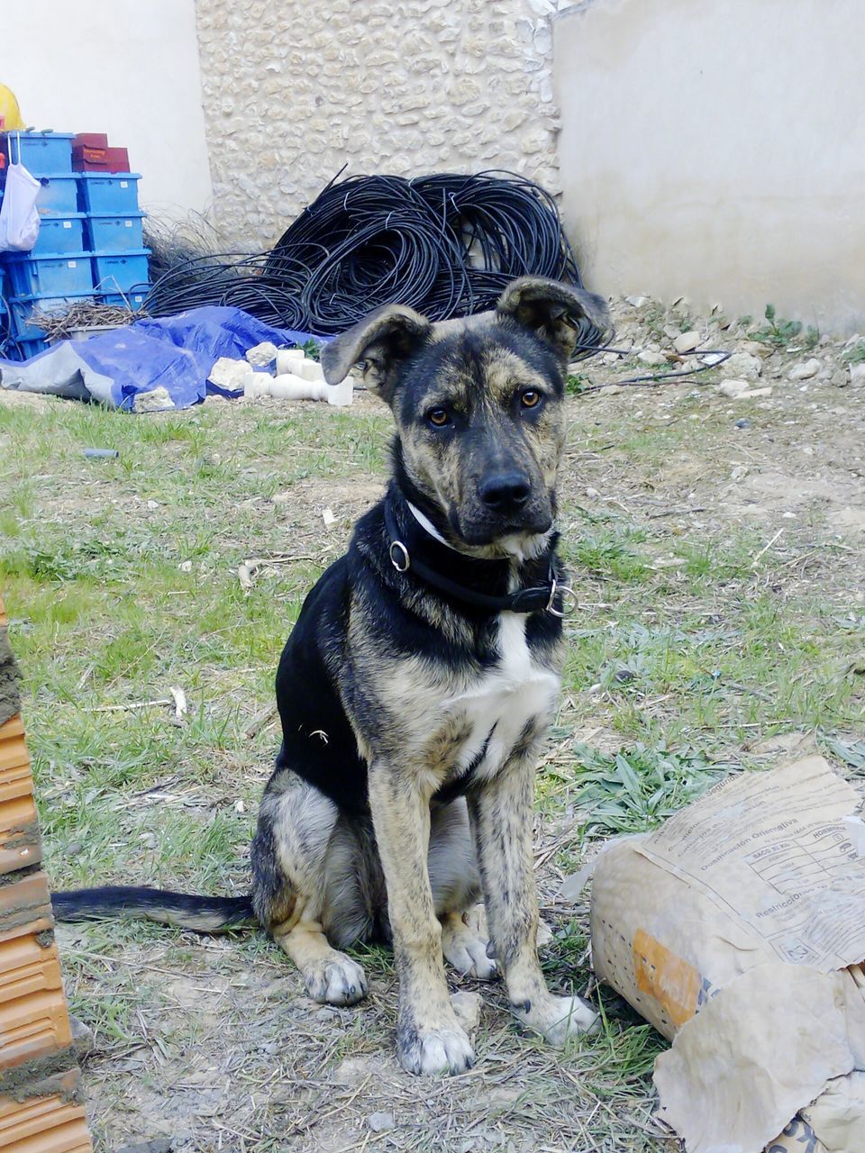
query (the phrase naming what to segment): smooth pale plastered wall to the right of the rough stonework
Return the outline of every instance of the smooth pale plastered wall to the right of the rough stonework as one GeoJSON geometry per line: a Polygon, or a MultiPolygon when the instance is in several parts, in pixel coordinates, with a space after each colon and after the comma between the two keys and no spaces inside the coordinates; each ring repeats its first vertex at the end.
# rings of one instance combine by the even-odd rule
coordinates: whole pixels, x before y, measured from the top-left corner
{"type": "Polygon", "coordinates": [[[862,327],[862,0],[587,0],[554,38],[593,286],[862,327]]]}

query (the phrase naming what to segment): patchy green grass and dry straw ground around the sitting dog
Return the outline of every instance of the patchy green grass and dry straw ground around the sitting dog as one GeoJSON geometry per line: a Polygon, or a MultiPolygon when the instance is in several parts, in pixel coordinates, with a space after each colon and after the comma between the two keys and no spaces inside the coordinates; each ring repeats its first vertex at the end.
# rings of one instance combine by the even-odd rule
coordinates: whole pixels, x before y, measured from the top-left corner
{"type": "MultiPolygon", "coordinates": [[[[634,416],[638,404],[648,410],[634,390],[571,401],[562,520],[581,608],[537,779],[554,932],[543,964],[563,990],[592,981],[587,917],[555,894],[599,841],[652,828],[724,773],[760,763],[750,744],[773,732],[813,730],[865,773],[863,677],[849,671],[865,640],[856,555],[819,525],[767,547],[772,532],[716,500],[698,521],[689,510],[713,502],[737,449],[722,412],[707,414],[693,392],[670,395],[664,424],[634,416]],[[694,461],[684,489],[669,474],[679,458],[694,461]]],[[[246,731],[271,702],[306,590],[381,485],[389,440],[371,401],[347,412],[209,402],[141,417],[0,406],[0,587],[57,887],[245,890],[277,741],[272,724],[246,731]],[[88,446],[119,458],[85,460],[88,446]],[[245,590],[238,566],[250,557],[260,567],[245,590]],[[170,699],[172,686],[189,701],[182,723],[166,706],[118,708],[170,699]]],[[[97,1033],[88,1068],[103,1147],[122,1144],[133,1117],[179,1150],[360,1148],[364,1117],[383,1109],[396,1129],[369,1138],[370,1151],[467,1153],[474,1139],[671,1147],[650,1120],[664,1042],[609,990],[597,993],[601,1034],[564,1055],[519,1033],[501,989],[484,992],[479,1069],[430,1087],[392,1063],[385,950],[360,954],[368,1003],[318,1010],[257,934],[202,941],[148,924],[62,934],[73,1008],[97,1033]],[[196,1114],[193,1099],[212,1110],[196,1114]]]]}

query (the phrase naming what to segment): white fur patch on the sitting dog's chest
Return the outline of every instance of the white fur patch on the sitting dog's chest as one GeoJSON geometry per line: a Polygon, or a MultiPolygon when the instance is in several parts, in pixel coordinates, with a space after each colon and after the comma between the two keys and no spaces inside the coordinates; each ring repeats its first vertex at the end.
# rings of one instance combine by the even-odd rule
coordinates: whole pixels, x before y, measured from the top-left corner
{"type": "Polygon", "coordinates": [[[498,621],[496,664],[443,702],[447,713],[464,719],[471,730],[458,769],[466,769],[483,751],[475,768],[481,778],[502,768],[531,722],[547,721],[561,684],[556,672],[533,658],[526,643],[525,616],[503,612],[498,621]]]}

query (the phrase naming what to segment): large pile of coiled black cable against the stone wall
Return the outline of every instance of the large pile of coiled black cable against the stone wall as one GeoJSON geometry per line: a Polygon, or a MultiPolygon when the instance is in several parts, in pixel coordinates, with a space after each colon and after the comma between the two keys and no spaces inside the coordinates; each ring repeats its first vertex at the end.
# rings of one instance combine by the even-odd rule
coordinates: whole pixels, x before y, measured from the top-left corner
{"type": "MultiPolygon", "coordinates": [[[[279,327],[343,332],[379,304],[444,321],[491,308],[517,277],[581,285],[555,201],[513,173],[331,181],[260,256],[183,259],[150,289],[165,316],[234,304],[279,327]]],[[[588,355],[600,333],[587,322],[588,355]]]]}

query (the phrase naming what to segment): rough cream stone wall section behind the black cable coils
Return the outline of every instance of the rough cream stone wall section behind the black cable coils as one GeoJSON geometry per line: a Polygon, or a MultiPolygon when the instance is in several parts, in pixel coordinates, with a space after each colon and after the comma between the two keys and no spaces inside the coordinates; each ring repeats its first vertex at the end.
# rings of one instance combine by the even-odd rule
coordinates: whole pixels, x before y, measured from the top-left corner
{"type": "Polygon", "coordinates": [[[270,246],[346,175],[510,168],[559,190],[565,0],[196,0],[215,223],[270,246]]]}

